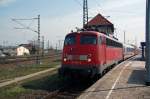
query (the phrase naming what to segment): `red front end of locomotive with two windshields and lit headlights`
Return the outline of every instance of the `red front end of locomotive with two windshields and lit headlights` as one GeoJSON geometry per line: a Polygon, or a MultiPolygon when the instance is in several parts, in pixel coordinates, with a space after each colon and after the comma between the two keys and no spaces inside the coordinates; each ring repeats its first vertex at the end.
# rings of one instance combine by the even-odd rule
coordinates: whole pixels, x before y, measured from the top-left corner
{"type": "Polygon", "coordinates": [[[94,33],[71,33],[64,41],[61,76],[93,77],[98,69],[97,35],[94,33]]]}

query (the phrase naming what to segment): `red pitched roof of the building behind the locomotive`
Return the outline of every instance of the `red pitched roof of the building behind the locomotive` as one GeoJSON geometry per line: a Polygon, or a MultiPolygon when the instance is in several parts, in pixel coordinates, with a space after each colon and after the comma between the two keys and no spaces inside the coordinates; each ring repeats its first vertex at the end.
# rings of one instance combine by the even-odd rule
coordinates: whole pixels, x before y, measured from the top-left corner
{"type": "Polygon", "coordinates": [[[110,21],[108,21],[101,14],[95,16],[92,20],[88,22],[88,25],[113,25],[110,21]]]}

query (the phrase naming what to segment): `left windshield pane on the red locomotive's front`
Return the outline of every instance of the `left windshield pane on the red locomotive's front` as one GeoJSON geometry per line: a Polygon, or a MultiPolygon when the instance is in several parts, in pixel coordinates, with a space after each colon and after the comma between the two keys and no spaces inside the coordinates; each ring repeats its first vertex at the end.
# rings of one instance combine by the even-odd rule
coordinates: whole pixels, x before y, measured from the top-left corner
{"type": "Polygon", "coordinates": [[[65,45],[74,45],[76,43],[76,36],[69,35],[65,38],[65,45]]]}

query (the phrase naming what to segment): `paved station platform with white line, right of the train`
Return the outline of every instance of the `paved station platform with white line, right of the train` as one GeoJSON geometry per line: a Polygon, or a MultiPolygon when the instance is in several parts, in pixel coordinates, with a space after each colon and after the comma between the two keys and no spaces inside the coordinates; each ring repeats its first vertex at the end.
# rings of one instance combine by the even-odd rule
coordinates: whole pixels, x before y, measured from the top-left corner
{"type": "Polygon", "coordinates": [[[150,99],[150,87],[145,85],[145,61],[135,56],[117,65],[78,99],[150,99]]]}

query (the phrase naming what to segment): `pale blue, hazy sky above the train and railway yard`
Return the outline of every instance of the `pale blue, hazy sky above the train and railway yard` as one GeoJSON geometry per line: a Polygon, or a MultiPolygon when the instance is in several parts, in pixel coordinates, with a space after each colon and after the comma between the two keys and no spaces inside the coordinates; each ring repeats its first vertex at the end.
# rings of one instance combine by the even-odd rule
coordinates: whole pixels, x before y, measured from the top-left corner
{"type": "MultiPolygon", "coordinates": [[[[0,0],[0,45],[15,45],[36,40],[37,34],[22,28],[12,19],[41,18],[41,36],[45,43],[56,46],[76,27],[82,27],[83,0],[0,0]]],[[[140,45],[145,41],[146,0],[88,0],[89,17],[98,13],[107,17],[115,28],[115,36],[123,42],[140,45]]],[[[37,20],[18,20],[37,30],[37,20]]]]}

